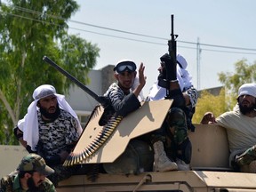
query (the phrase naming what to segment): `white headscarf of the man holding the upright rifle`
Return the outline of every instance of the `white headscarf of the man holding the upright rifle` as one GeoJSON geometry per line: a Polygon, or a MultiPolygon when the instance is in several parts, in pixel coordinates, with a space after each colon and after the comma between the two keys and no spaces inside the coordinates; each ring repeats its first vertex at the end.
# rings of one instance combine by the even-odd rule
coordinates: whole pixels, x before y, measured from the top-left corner
{"type": "MultiPolygon", "coordinates": [[[[180,90],[183,92],[184,89],[188,89],[192,86],[192,77],[188,74],[186,69],[188,67],[187,60],[180,55],[180,53],[177,53],[176,59],[179,62],[179,65],[177,65],[177,80],[180,84],[180,90]]],[[[166,89],[160,87],[158,81],[156,81],[149,90],[148,100],[164,100],[165,96],[166,89]]]]}

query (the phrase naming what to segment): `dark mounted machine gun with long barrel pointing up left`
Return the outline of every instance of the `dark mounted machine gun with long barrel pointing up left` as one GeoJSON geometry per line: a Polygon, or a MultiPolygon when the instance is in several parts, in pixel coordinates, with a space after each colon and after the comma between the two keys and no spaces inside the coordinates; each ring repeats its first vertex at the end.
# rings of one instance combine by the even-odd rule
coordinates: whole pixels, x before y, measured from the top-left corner
{"type": "Polygon", "coordinates": [[[58,66],[55,62],[53,62],[50,58],[48,58],[47,56],[43,57],[43,60],[47,63],[49,63],[50,65],[52,65],[53,68],[56,68],[57,70],[60,71],[60,73],[62,73],[64,76],[68,77],[68,79],[70,79],[72,82],[74,82],[77,86],[79,86],[82,90],[84,90],[84,92],[87,92],[89,95],[92,96],[93,99],[97,100],[100,105],[104,108],[104,113],[100,118],[100,125],[104,125],[107,124],[108,122],[108,117],[111,116],[112,111],[114,110],[110,100],[108,99],[108,97],[104,97],[104,96],[99,96],[97,95],[95,92],[92,92],[92,90],[90,90],[88,87],[86,87],[84,84],[82,84],[80,81],[78,81],[74,76],[71,76],[67,71],[65,71],[63,68],[60,68],[60,66],[58,66]]]}

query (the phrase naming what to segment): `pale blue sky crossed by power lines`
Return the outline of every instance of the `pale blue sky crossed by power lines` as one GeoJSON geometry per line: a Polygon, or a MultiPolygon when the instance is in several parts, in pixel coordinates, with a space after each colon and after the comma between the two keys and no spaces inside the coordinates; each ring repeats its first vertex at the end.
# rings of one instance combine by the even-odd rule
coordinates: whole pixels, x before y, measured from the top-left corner
{"type": "Polygon", "coordinates": [[[159,57],[168,52],[172,14],[174,34],[179,35],[177,51],[187,59],[188,72],[197,89],[220,86],[218,73],[232,73],[236,61],[246,59],[252,64],[256,58],[254,0],[78,0],[77,3],[81,7],[68,22],[70,33],[98,45],[100,58],[95,69],[115,65],[122,59],[134,60],[137,66],[143,62],[148,76],[145,95],[158,75],[159,57]],[[201,48],[200,62],[197,42],[201,48]]]}

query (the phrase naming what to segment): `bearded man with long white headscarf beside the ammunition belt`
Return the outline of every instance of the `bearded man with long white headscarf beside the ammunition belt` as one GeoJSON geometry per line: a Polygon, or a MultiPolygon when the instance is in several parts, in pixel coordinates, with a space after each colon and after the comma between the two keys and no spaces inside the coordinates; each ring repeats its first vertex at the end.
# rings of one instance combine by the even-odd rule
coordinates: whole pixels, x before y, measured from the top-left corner
{"type": "Polygon", "coordinates": [[[76,167],[62,164],[75,147],[82,128],[64,95],[57,94],[52,85],[37,87],[33,98],[28,113],[14,128],[14,134],[29,153],[44,157],[46,164],[55,170],[50,179],[57,186],[60,180],[76,171],[76,167]]]}

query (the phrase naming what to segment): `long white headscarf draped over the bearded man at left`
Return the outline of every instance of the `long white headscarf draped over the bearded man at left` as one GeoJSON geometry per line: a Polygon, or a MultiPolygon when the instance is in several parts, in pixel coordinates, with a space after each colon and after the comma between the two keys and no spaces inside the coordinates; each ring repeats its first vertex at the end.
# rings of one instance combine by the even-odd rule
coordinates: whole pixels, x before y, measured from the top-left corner
{"type": "Polygon", "coordinates": [[[65,111],[68,111],[72,116],[76,118],[77,122],[77,131],[79,135],[82,133],[82,127],[76,116],[75,111],[69,106],[68,102],[65,100],[64,95],[56,93],[55,88],[50,84],[43,84],[36,88],[33,92],[34,101],[28,107],[28,113],[24,116],[23,119],[20,119],[18,122],[19,129],[23,132],[23,140],[27,141],[27,144],[31,147],[32,150],[36,151],[36,145],[39,140],[39,131],[38,131],[38,119],[37,119],[37,101],[45,97],[54,94],[57,97],[60,108],[65,111]]]}

